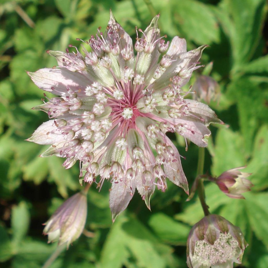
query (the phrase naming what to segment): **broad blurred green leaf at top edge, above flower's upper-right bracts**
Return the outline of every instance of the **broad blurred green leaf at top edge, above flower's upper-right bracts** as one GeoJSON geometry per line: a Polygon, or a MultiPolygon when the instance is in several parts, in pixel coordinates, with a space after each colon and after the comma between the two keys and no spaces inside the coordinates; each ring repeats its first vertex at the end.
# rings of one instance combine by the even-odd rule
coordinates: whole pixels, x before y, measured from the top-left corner
{"type": "Polygon", "coordinates": [[[173,17],[183,36],[197,44],[219,42],[219,27],[209,5],[195,0],[173,3],[173,17]]]}

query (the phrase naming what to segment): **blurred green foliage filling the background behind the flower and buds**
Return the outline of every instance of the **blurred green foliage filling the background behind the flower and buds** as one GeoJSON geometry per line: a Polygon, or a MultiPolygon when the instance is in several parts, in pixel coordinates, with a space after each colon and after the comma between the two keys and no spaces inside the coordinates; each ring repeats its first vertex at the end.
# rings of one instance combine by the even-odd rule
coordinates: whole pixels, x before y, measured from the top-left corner
{"type": "MultiPolygon", "coordinates": [[[[46,50],[80,47],[76,38],[89,39],[105,27],[109,9],[135,38],[135,26],[145,28],[161,12],[162,34],[178,35],[188,49],[202,44],[202,64],[213,61],[211,76],[221,87],[219,102],[211,102],[226,126],[211,126],[205,171],[217,176],[247,165],[254,187],[245,200],[230,199],[216,185],[207,184],[207,204],[240,226],[247,242],[239,267],[267,268],[268,263],[268,55],[265,0],[16,0],[0,2],[0,266],[41,267],[54,252],[47,245],[42,223],[81,187],[78,166],[65,170],[62,159],[39,158],[43,146],[24,141],[46,114],[31,110],[41,103],[42,91],[27,71],[56,64],[46,50]],[[266,32],[265,32],[266,30],[266,32]]],[[[195,72],[191,84],[201,69],[195,72]]],[[[189,85],[188,85],[189,87],[189,85]]],[[[49,95],[49,94],[47,94],[49,95]]],[[[191,185],[196,173],[197,147],[184,151],[171,136],[191,185]]],[[[193,224],[203,217],[198,199],[168,184],[155,192],[148,211],[136,195],[128,209],[111,224],[109,183],[88,196],[86,228],[51,267],[187,267],[186,240],[193,224]]]]}

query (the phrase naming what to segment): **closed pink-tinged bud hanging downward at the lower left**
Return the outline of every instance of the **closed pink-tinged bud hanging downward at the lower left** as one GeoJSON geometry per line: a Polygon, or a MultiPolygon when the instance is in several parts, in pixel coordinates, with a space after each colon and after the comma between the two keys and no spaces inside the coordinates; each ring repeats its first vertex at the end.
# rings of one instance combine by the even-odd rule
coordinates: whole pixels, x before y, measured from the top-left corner
{"type": "Polygon", "coordinates": [[[83,232],[87,218],[87,196],[76,193],[67,199],[44,224],[48,242],[58,241],[59,245],[75,241],[83,232]]]}

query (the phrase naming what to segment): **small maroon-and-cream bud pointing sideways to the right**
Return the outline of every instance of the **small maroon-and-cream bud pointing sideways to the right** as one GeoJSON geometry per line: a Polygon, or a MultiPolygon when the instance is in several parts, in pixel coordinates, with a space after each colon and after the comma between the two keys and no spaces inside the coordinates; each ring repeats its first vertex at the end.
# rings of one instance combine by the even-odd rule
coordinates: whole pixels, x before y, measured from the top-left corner
{"type": "Polygon", "coordinates": [[[246,179],[251,173],[240,171],[240,169],[244,168],[227,170],[214,180],[220,190],[230,198],[244,198],[241,193],[250,191],[250,188],[253,186],[251,181],[246,179]]]}

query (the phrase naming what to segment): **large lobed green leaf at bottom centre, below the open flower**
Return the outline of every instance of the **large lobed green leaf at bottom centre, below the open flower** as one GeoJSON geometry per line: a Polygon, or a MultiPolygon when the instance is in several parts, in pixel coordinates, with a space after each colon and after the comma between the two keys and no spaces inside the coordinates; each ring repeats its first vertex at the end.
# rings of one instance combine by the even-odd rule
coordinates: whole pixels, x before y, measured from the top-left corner
{"type": "Polygon", "coordinates": [[[170,247],[161,244],[137,219],[126,219],[121,215],[105,242],[101,267],[121,267],[130,256],[137,267],[169,267],[171,252],[170,247]]]}

